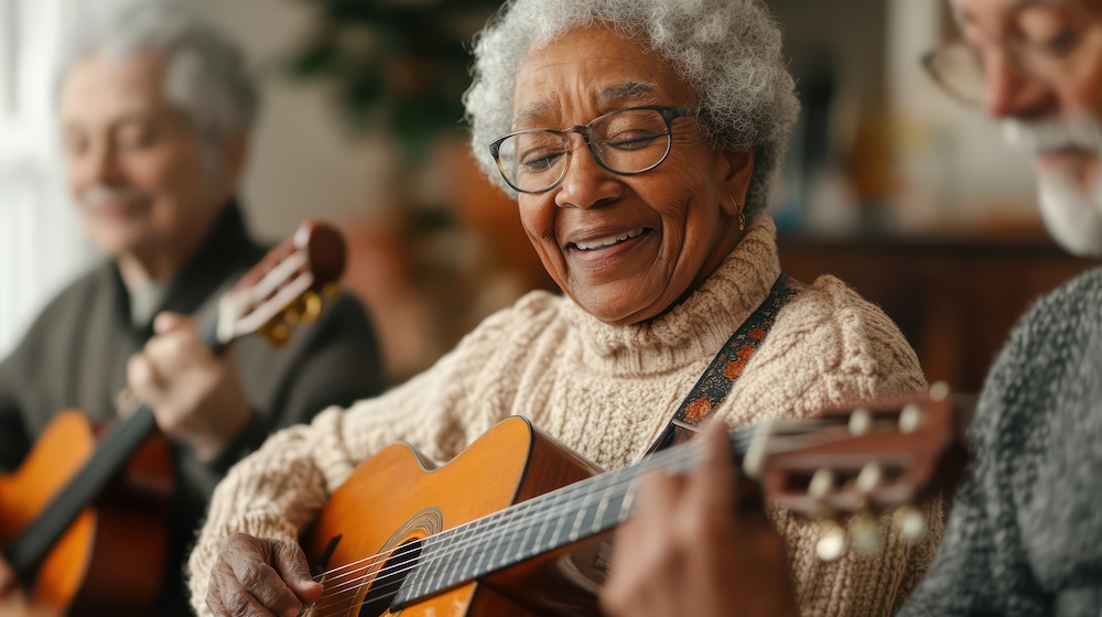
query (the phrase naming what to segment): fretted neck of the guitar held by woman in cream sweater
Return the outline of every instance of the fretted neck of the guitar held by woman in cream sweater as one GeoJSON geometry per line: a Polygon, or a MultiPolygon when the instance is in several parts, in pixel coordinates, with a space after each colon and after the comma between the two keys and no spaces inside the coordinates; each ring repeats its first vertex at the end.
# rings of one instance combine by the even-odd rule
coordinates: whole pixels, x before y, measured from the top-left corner
{"type": "MultiPolygon", "coordinates": [[[[754,427],[728,433],[741,461],[754,427]]],[[[615,472],[547,492],[425,539],[418,565],[402,584],[395,607],[440,592],[575,542],[599,535],[627,520],[639,479],[652,470],[683,473],[695,467],[701,444],[657,453],[615,472]]]]}

